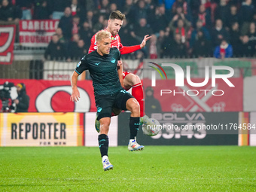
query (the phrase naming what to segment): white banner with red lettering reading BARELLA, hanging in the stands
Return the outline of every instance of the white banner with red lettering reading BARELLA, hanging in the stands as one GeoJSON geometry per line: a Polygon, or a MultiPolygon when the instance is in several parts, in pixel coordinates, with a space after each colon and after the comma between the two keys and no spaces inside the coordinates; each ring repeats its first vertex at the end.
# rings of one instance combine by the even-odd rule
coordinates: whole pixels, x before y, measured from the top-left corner
{"type": "Polygon", "coordinates": [[[20,20],[20,44],[25,47],[47,47],[59,20],[20,20]]]}

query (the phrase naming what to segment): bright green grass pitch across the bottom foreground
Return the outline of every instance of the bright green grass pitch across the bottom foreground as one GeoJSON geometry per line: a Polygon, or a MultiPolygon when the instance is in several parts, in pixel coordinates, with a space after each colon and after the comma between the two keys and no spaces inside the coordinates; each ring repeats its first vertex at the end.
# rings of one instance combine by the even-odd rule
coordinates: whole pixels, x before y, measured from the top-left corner
{"type": "Polygon", "coordinates": [[[255,191],[256,148],[0,148],[0,191],[255,191]]]}

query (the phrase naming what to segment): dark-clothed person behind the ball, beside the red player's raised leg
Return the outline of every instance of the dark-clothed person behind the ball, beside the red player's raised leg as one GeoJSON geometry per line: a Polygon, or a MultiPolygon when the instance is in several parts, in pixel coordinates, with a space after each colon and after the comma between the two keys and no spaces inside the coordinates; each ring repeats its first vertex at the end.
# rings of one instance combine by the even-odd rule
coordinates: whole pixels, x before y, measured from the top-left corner
{"type": "Polygon", "coordinates": [[[160,102],[154,98],[154,90],[152,87],[147,87],[145,90],[145,112],[151,117],[152,113],[162,112],[160,102]]]}

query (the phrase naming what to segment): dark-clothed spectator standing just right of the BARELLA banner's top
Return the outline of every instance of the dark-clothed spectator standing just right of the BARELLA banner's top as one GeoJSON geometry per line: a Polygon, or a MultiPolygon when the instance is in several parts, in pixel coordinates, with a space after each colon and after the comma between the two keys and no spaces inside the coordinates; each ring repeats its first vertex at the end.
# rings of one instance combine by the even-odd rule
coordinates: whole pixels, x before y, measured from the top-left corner
{"type": "Polygon", "coordinates": [[[65,8],[64,16],[59,20],[58,27],[62,29],[64,38],[69,40],[72,37],[73,20],[71,9],[69,7],[65,8]]]}

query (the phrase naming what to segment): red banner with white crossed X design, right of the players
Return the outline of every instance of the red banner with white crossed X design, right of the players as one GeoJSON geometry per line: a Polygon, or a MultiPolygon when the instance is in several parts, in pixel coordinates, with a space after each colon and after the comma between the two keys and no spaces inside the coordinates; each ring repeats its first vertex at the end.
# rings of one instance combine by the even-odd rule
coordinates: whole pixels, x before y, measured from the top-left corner
{"type": "MultiPolygon", "coordinates": [[[[162,111],[242,111],[243,79],[229,80],[235,87],[229,87],[222,79],[216,79],[215,87],[212,87],[211,81],[203,87],[191,87],[187,81],[184,81],[184,87],[175,87],[175,80],[157,80],[156,86],[152,88],[162,111]]],[[[191,81],[201,83],[204,79],[191,81]]],[[[151,80],[144,79],[143,84],[145,89],[151,86],[151,80]]]]}

